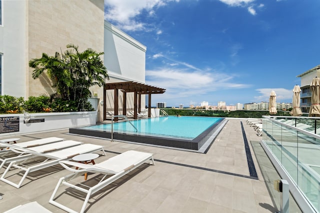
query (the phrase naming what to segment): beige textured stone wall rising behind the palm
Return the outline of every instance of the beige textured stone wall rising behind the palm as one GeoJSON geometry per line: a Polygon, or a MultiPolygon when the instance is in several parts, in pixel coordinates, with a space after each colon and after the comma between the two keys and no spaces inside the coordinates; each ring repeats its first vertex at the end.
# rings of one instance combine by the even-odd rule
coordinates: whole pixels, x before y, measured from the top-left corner
{"type": "MultiPolygon", "coordinates": [[[[103,52],[103,0],[29,0],[26,21],[27,62],[41,57],[42,52],[54,55],[64,51],[69,43],[78,45],[79,51],[92,48],[103,52]]],[[[27,96],[54,92],[48,78],[34,80],[31,73],[28,68],[27,96]]]]}

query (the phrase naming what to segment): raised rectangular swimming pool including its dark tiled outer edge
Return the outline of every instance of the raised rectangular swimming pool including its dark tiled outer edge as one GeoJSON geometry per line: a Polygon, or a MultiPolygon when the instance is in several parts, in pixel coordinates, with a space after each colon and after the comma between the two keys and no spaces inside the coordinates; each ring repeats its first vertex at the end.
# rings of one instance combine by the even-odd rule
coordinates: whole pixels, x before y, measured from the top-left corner
{"type": "MultiPolygon", "coordinates": [[[[223,118],[165,116],[113,123],[113,139],[198,150],[223,118]]],[[[70,128],[69,133],[111,138],[111,124],[70,128]]]]}

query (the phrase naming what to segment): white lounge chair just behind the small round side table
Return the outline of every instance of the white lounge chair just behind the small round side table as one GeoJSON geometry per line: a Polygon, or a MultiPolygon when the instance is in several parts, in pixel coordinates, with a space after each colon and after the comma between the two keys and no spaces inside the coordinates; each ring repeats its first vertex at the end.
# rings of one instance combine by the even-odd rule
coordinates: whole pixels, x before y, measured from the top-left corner
{"type": "MultiPolygon", "coordinates": [[[[12,151],[14,150],[12,149],[12,151]]],[[[22,182],[30,172],[34,172],[47,167],[54,166],[58,164],[59,161],[61,160],[70,160],[72,157],[79,154],[92,153],[97,151],[102,151],[103,154],[105,155],[103,146],[94,145],[94,144],[82,144],[82,145],[73,146],[70,148],[62,149],[55,152],[49,152],[49,153],[25,151],[26,154],[31,154],[31,155],[18,156],[14,159],[14,161],[11,161],[10,164],[7,166],[6,170],[4,171],[4,173],[2,174],[2,176],[0,177],[0,181],[3,181],[4,183],[7,183],[15,188],[20,188],[20,186],[22,185],[22,182]],[[37,157],[42,157],[40,158],[41,159],[40,162],[34,161],[35,159],[37,159],[37,157]],[[7,178],[5,177],[11,168],[16,168],[24,171],[24,174],[18,184],[15,184],[12,181],[7,180],[7,178]]],[[[20,152],[20,151],[17,151],[17,152],[20,152]]]]}

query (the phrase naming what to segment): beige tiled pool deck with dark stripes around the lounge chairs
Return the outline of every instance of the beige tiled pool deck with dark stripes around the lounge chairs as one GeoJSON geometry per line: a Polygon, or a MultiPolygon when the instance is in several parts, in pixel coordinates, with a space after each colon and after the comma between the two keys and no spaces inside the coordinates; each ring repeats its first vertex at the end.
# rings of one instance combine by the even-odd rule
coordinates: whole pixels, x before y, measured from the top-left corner
{"type": "MultiPolygon", "coordinates": [[[[67,129],[0,139],[17,137],[24,142],[60,137],[103,145],[107,156],[100,156],[95,163],[127,150],[153,153],[154,166],[140,166],[93,196],[88,213],[274,213],[280,209],[280,193],[273,189],[273,181],[280,178],[259,145],[261,137],[245,120],[228,119],[206,154],[70,135],[67,129]],[[249,169],[245,141],[257,177],[249,169]]],[[[69,173],[54,168],[34,172],[20,189],[0,181],[0,212],[37,201],[51,212],[63,213],[48,201],[58,179],[69,173]]],[[[94,176],[89,174],[88,180],[94,176]]],[[[82,205],[69,195],[63,195],[63,202],[73,208],[82,205]]],[[[290,213],[301,212],[292,198],[289,205],[290,213]]]]}

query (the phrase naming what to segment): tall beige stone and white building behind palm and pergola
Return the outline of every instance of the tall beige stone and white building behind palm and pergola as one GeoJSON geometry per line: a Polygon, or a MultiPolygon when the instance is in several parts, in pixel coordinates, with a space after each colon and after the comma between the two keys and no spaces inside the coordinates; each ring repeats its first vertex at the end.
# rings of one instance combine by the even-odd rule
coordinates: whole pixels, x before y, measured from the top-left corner
{"type": "MultiPolygon", "coordinates": [[[[146,47],[104,20],[103,0],[0,0],[0,94],[27,99],[55,92],[50,79],[32,78],[28,61],[42,53],[54,55],[74,44],[79,51],[92,48],[104,52],[108,82],[144,83],[146,47]]],[[[92,87],[96,102],[103,100],[103,88],[92,87]]],[[[108,91],[107,108],[113,108],[108,91]]],[[[119,98],[119,108],[121,108],[119,98]]],[[[127,108],[133,98],[127,95],[127,108]]],[[[145,105],[144,95],[141,103],[145,105]]],[[[103,105],[103,104],[102,104],[103,105]]],[[[102,121],[101,104],[98,121],[102,121]]]]}

